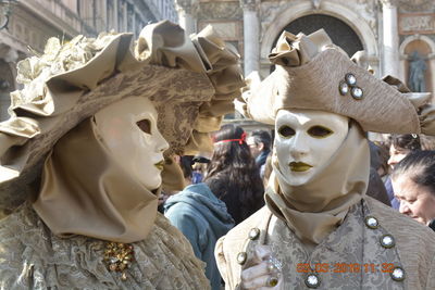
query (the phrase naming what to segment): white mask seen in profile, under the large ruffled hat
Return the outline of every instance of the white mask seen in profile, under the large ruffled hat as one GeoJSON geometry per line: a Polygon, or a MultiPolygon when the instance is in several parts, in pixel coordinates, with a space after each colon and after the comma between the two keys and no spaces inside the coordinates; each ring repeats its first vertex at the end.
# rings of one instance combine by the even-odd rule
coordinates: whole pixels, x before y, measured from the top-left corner
{"type": "Polygon", "coordinates": [[[148,190],[162,182],[163,151],[169,148],[157,127],[158,114],[146,98],[114,102],[97,114],[97,129],[113,159],[148,190]]]}

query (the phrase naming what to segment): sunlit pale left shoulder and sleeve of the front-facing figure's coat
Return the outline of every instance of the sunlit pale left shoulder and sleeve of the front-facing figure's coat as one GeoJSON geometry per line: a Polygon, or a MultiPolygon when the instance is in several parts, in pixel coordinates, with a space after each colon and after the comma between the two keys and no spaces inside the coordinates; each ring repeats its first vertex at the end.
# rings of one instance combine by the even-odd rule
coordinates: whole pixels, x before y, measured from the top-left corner
{"type": "Polygon", "coordinates": [[[261,228],[271,212],[263,206],[250,217],[238,224],[232,230],[217,240],[214,255],[222,278],[225,280],[225,289],[236,289],[240,277],[241,267],[237,263],[237,254],[245,250],[251,229],[261,228]]]}

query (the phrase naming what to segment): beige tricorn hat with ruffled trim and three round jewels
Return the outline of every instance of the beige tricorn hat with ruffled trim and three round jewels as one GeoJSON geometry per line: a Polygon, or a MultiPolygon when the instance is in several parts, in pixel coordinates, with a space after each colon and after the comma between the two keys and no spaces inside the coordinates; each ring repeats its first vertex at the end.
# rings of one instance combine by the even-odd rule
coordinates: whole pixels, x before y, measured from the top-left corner
{"type": "Polygon", "coordinates": [[[431,93],[407,93],[396,78],[375,78],[358,64],[362,56],[350,60],[323,29],[284,31],[269,55],[275,71],[262,81],[250,75],[236,109],[271,125],[281,109],[310,109],[348,116],[365,131],[434,135],[431,93]]]}

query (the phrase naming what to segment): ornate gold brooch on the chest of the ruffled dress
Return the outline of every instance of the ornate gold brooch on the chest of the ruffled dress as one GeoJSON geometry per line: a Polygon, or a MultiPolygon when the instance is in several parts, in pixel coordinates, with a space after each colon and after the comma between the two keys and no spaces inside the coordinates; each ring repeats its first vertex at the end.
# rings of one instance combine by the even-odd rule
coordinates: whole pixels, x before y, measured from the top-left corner
{"type": "Polygon", "coordinates": [[[121,279],[127,279],[127,269],[135,259],[133,245],[123,242],[108,242],[104,250],[104,263],[110,272],[121,273],[121,279]]]}

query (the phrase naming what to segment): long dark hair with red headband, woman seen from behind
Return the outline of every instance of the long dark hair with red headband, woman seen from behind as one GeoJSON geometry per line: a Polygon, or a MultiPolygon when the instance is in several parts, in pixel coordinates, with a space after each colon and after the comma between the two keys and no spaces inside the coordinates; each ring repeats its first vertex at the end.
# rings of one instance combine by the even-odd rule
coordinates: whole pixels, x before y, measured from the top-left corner
{"type": "Polygon", "coordinates": [[[227,124],[214,135],[204,182],[225,202],[236,225],[264,205],[264,187],[241,127],[227,124]]]}

